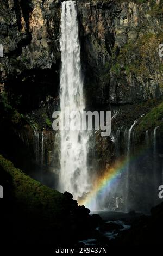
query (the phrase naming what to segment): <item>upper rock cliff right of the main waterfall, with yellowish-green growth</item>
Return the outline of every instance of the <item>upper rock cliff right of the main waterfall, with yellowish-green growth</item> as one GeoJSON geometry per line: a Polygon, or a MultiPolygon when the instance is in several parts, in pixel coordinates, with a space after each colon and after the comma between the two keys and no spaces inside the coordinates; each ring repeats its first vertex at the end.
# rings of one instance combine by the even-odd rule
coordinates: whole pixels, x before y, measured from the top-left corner
{"type": "Polygon", "coordinates": [[[135,103],[162,95],[158,47],[163,3],[142,2],[78,2],[86,88],[95,104],[135,103]]]}

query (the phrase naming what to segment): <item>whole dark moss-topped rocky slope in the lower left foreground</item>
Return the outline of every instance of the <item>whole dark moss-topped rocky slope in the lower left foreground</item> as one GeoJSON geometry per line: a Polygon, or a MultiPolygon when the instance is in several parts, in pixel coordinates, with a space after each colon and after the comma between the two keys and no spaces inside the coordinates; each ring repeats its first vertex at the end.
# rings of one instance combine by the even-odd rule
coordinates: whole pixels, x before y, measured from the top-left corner
{"type": "Polygon", "coordinates": [[[98,216],[89,215],[89,209],[78,206],[70,193],[61,194],[40,184],[2,155],[0,180],[14,244],[73,244],[91,234],[99,221],[98,216]]]}

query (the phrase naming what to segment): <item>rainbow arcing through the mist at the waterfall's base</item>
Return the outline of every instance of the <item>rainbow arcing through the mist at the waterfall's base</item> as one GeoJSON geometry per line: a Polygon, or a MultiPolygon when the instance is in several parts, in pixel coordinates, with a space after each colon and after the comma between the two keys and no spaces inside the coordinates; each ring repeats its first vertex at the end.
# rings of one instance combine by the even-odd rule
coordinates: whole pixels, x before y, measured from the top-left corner
{"type": "Polygon", "coordinates": [[[117,160],[116,163],[107,168],[102,176],[95,179],[92,185],[92,190],[86,194],[85,198],[79,199],[79,205],[85,205],[91,210],[97,210],[96,198],[104,198],[107,192],[111,190],[116,185],[118,178],[127,170],[127,167],[133,161],[139,161],[146,154],[146,149],[142,148],[139,150],[134,157],[128,159],[117,160]]]}

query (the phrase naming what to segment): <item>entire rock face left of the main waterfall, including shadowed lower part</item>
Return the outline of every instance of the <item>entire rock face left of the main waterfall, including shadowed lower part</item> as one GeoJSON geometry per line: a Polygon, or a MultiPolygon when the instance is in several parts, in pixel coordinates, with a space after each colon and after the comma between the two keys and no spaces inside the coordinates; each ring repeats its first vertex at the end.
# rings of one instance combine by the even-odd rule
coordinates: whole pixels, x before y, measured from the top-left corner
{"type": "Polygon", "coordinates": [[[15,163],[21,160],[18,166],[24,170],[45,169],[41,167],[45,165],[51,169],[55,151],[52,113],[58,106],[59,90],[60,8],[55,1],[33,0],[4,0],[0,8],[1,118],[10,119],[3,120],[1,132],[11,142],[3,139],[1,152],[14,156],[15,163]],[[22,149],[17,155],[14,141],[22,149]]]}

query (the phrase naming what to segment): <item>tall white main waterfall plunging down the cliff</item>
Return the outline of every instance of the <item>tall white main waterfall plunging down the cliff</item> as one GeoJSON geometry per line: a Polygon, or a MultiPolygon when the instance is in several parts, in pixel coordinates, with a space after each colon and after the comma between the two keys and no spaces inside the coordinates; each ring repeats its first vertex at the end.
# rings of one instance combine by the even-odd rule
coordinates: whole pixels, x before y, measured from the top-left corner
{"type": "MultiPolygon", "coordinates": [[[[65,114],[69,111],[80,114],[85,108],[83,96],[83,80],[80,68],[80,44],[78,38],[78,21],[76,2],[62,2],[61,11],[61,74],[60,74],[60,108],[65,114]]],[[[76,115],[70,121],[76,122],[76,115]]],[[[68,191],[74,198],[82,197],[89,192],[90,186],[87,171],[87,141],[86,131],[60,131],[60,176],[59,189],[68,191]]]]}

